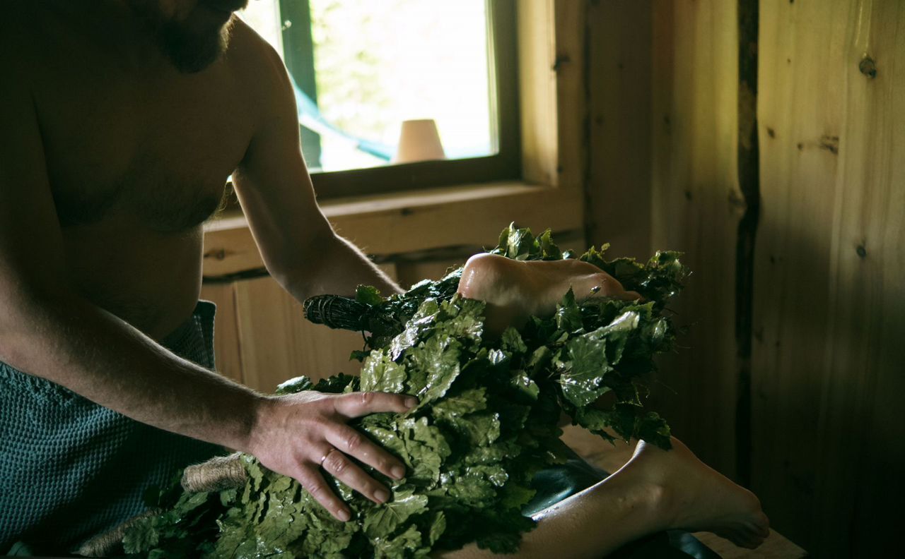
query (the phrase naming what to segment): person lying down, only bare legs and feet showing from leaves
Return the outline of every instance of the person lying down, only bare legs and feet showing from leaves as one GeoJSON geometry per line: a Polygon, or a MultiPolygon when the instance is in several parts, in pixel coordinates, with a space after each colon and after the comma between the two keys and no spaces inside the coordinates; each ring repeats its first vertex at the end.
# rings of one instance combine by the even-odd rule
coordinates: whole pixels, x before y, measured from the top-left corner
{"type": "MultiPolygon", "coordinates": [[[[597,297],[641,297],[585,262],[521,262],[495,255],[472,256],[459,293],[487,303],[485,324],[493,335],[504,325],[551,314],[557,293],[569,287],[597,297]]],[[[538,526],[522,539],[519,556],[600,557],[669,529],[712,532],[750,549],[769,535],[757,497],[698,460],[681,441],[672,437],[669,451],[644,441],[631,443],[614,447],[611,463],[617,464],[626,449],[631,453],[612,475],[534,516],[538,526]]],[[[436,556],[477,559],[494,554],[468,545],[436,556]]]]}

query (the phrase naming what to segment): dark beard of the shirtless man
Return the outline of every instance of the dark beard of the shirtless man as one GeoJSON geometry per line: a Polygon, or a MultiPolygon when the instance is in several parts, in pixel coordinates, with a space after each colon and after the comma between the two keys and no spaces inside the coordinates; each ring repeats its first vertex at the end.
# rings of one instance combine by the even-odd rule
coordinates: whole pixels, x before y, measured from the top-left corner
{"type": "MultiPolygon", "coordinates": [[[[195,6],[195,10],[204,9],[205,5],[218,4],[239,8],[243,7],[245,2],[201,0],[195,6]]],[[[234,16],[228,22],[219,25],[199,23],[198,14],[195,13],[189,14],[186,21],[174,21],[166,19],[160,13],[156,0],[129,0],[129,5],[148,31],[154,35],[158,48],[176,66],[176,70],[184,73],[205,70],[229,47],[234,16]]]]}

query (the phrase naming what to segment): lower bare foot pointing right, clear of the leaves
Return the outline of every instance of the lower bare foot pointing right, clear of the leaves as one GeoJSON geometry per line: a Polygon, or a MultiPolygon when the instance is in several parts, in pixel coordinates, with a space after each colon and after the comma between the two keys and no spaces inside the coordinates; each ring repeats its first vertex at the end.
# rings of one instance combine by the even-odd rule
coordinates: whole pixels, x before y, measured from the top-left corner
{"type": "Polygon", "coordinates": [[[698,460],[678,439],[672,439],[672,451],[639,442],[619,473],[660,489],[658,509],[667,529],[712,532],[748,549],[769,536],[754,493],[698,460]]]}

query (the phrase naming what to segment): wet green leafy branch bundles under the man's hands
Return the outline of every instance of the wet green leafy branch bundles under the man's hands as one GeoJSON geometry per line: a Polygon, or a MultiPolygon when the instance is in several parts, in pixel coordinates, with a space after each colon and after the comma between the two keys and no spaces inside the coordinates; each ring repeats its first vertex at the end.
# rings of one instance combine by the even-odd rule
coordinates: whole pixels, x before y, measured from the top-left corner
{"type": "MultiPolygon", "coordinates": [[[[298,482],[243,456],[243,488],[157,496],[166,510],[131,526],[128,553],[150,557],[424,557],[470,542],[498,553],[518,550],[534,521],[520,513],[531,479],[565,460],[561,412],[606,439],[643,438],[670,446],[668,425],[643,406],[653,356],[670,349],[674,331],[665,300],[687,272],[675,253],[646,264],[605,261],[605,247],[581,259],[642,293],[643,302],[576,299],[565,293],[551,317],[533,317],[499,340],[483,335],[484,304],[455,295],[461,269],[439,282],[383,298],[359,288],[353,308],[382,331],[367,338],[361,376],[314,385],[299,377],[279,392],[377,390],[417,396],[406,414],[376,414],[352,424],[405,462],[393,497],[376,505],[327,476],[352,511],[342,523],[298,482]],[[601,405],[601,402],[606,405],[601,405]],[[605,428],[609,432],[604,431],[605,428]]],[[[518,259],[571,257],[510,226],[491,252],[518,259]]],[[[342,303],[333,301],[332,303],[342,303]]]]}

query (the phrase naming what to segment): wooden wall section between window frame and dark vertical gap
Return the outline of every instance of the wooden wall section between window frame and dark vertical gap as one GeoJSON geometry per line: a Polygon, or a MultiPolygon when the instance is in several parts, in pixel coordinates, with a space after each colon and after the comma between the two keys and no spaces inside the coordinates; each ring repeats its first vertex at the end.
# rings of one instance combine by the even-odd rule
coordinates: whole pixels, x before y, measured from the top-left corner
{"type": "Polygon", "coordinates": [[[735,474],[738,49],[734,2],[589,2],[595,243],[685,253],[672,310],[689,328],[653,405],[700,458],[735,474]]]}

